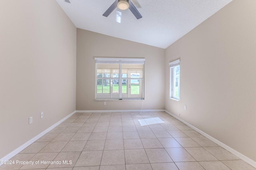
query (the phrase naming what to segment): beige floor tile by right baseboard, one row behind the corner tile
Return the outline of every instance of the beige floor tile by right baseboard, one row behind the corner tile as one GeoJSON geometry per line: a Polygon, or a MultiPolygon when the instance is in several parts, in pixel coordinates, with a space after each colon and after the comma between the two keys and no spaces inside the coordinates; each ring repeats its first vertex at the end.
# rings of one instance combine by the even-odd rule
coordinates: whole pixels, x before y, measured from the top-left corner
{"type": "Polygon", "coordinates": [[[234,154],[228,152],[224,148],[218,147],[205,147],[205,149],[210,152],[213,156],[215,156],[218,160],[240,160],[234,154]]]}

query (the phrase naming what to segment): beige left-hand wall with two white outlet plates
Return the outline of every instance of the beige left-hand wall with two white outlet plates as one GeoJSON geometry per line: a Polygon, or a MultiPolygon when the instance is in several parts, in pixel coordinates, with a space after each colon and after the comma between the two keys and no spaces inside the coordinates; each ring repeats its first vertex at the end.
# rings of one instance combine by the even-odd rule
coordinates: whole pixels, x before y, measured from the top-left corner
{"type": "Polygon", "coordinates": [[[75,103],[74,24],[55,0],[1,1],[0,158],[75,111],[75,103]]]}

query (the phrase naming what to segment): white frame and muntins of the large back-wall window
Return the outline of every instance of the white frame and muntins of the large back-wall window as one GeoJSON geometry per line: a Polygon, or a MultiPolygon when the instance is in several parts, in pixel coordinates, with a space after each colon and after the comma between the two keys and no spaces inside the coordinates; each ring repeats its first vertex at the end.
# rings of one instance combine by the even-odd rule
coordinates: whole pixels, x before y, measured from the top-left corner
{"type": "MultiPolygon", "coordinates": [[[[145,64],[145,59],[143,58],[105,58],[105,57],[94,57],[95,61],[96,61],[96,65],[95,65],[95,100],[144,100],[144,64],[145,64]],[[113,78],[111,76],[110,73],[110,77],[109,78],[104,78],[104,79],[118,79],[118,82],[123,82],[123,80],[126,81],[126,93],[122,93],[122,83],[118,83],[118,95],[115,95],[114,97],[112,97],[112,93],[111,93],[111,85],[110,85],[110,93],[106,93],[105,96],[104,94],[99,94],[97,92],[97,87],[98,87],[98,79],[103,79],[103,77],[97,77],[97,69],[98,66],[97,64],[119,64],[119,73],[118,73],[118,78],[113,78]],[[138,78],[132,78],[129,77],[128,73],[126,77],[122,77],[122,64],[142,64],[143,68],[140,70],[142,71],[142,77],[138,78]],[[132,79],[139,79],[141,82],[140,84],[140,93],[141,93],[141,97],[136,96],[136,95],[132,95],[132,94],[128,94],[128,81],[131,81],[132,79]]],[[[129,71],[132,70],[136,70],[136,69],[128,69],[129,71]]],[[[132,85],[131,85],[132,86],[132,85]]],[[[129,86],[130,87],[130,86],[129,86]]],[[[131,87],[130,87],[131,88],[131,87]]]]}

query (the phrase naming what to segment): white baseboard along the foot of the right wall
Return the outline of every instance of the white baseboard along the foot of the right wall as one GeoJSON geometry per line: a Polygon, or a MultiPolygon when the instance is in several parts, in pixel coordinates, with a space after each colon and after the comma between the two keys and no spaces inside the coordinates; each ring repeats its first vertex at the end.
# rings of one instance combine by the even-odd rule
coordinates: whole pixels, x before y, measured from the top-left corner
{"type": "Polygon", "coordinates": [[[186,121],[180,119],[179,117],[177,117],[176,115],[173,115],[172,113],[168,112],[165,110],[166,113],[168,113],[169,115],[171,115],[172,117],[174,117],[175,119],[178,119],[179,121],[181,121],[182,123],[184,123],[185,125],[187,125],[188,127],[196,130],[198,133],[202,134],[203,136],[205,136],[206,138],[212,140],[212,142],[218,144],[219,146],[221,146],[222,148],[228,150],[229,152],[231,152],[232,154],[234,154],[235,156],[237,156],[238,158],[240,158],[241,160],[244,160],[244,162],[247,162],[248,164],[250,164],[251,166],[253,166],[254,168],[256,168],[256,162],[250,158],[248,158],[247,156],[241,154],[240,152],[234,150],[233,148],[230,148],[228,145],[220,142],[219,140],[217,140],[216,138],[206,134],[205,132],[203,132],[202,130],[194,127],[193,125],[190,125],[189,123],[187,123],[186,121]]]}

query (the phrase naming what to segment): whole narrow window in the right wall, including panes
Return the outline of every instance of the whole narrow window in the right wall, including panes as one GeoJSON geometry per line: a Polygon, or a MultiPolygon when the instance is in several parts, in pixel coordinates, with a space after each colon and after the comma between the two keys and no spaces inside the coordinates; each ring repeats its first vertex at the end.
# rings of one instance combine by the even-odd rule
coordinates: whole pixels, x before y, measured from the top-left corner
{"type": "Polygon", "coordinates": [[[180,59],[170,65],[170,98],[180,100],[180,59]]]}

